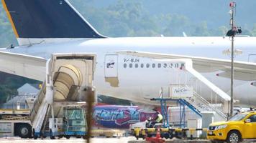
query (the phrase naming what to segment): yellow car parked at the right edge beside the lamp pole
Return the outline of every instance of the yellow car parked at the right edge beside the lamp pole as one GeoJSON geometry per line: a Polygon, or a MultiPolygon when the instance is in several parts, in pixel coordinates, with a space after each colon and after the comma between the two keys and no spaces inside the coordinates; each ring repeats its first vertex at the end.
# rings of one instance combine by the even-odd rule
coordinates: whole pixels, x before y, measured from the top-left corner
{"type": "Polygon", "coordinates": [[[256,139],[256,112],[242,112],[227,122],[209,125],[207,139],[213,142],[242,142],[242,139],[256,139]]]}

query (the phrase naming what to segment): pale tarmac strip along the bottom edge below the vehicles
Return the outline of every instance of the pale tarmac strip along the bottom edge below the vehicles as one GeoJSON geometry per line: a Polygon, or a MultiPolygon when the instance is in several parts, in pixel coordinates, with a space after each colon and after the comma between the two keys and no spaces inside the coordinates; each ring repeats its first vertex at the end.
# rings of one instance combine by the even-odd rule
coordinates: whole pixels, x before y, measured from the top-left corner
{"type": "MultiPolygon", "coordinates": [[[[0,138],[0,143],[86,143],[84,139],[70,138],[70,139],[21,139],[19,137],[0,138]]],[[[209,140],[182,140],[182,139],[171,139],[166,140],[166,143],[210,143],[209,140]]],[[[247,140],[244,142],[255,142],[255,140],[247,140]]],[[[134,137],[120,137],[120,138],[104,138],[95,137],[91,138],[91,143],[145,143],[145,140],[136,140],[134,137]]]]}

